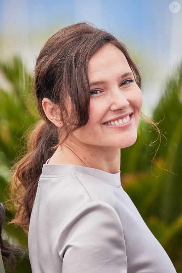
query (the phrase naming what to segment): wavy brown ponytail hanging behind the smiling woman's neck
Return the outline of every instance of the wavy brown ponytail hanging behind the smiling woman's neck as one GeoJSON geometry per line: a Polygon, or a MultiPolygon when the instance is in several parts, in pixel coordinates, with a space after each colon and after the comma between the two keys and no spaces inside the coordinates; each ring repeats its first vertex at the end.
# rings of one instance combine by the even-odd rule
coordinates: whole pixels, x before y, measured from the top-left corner
{"type": "Polygon", "coordinates": [[[35,126],[28,141],[27,154],[14,165],[12,198],[17,213],[12,223],[29,225],[42,166],[55,152],[58,131],[52,123],[41,120],[35,126]]]}

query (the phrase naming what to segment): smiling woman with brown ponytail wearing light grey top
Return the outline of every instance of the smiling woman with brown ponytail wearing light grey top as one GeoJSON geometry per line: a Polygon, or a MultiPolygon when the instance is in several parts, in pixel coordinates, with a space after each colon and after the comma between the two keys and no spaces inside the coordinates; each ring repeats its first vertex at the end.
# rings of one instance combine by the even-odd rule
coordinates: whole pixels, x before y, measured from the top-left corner
{"type": "Polygon", "coordinates": [[[35,91],[44,121],[14,174],[24,192],[14,222],[29,224],[33,273],[176,272],[120,183],[140,87],[125,45],[89,24],[61,29],[40,51],[35,91]]]}

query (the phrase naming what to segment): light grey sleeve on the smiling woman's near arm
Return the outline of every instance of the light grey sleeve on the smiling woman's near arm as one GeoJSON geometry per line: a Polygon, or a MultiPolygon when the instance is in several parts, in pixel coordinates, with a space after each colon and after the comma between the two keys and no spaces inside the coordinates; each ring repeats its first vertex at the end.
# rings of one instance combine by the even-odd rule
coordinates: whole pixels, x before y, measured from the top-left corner
{"type": "Polygon", "coordinates": [[[120,218],[104,201],[87,202],[62,228],[58,242],[62,273],[126,273],[120,218]]]}

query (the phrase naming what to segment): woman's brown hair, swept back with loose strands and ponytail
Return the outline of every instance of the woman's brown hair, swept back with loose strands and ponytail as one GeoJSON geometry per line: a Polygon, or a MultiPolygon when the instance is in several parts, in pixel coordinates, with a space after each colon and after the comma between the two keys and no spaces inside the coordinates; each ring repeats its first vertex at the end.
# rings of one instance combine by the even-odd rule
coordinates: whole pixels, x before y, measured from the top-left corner
{"type": "Polygon", "coordinates": [[[14,185],[18,211],[13,220],[28,225],[42,166],[73,131],[88,122],[90,89],[87,67],[90,57],[106,44],[118,47],[125,55],[141,88],[141,76],[126,46],[110,33],[88,23],[67,26],[54,34],[41,49],[35,66],[35,95],[44,121],[33,130],[28,153],[15,165],[14,185]],[[63,126],[60,131],[46,117],[42,99],[59,105],[63,126]],[[67,105],[71,103],[71,114],[67,105]],[[64,128],[64,130],[63,130],[64,128]],[[61,139],[61,141],[60,141],[61,139]]]}

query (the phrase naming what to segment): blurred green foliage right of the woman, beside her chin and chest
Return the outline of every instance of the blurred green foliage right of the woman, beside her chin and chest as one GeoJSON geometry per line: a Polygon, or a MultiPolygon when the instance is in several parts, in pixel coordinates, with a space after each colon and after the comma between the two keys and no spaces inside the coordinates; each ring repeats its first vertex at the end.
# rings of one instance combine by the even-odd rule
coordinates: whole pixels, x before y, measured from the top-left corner
{"type": "Polygon", "coordinates": [[[148,145],[157,134],[141,121],[135,145],[121,152],[121,184],[177,272],[182,272],[182,62],[166,80],[152,119],[162,120],[157,164],[150,161],[159,143],[148,145]]]}

